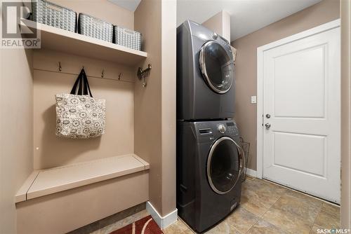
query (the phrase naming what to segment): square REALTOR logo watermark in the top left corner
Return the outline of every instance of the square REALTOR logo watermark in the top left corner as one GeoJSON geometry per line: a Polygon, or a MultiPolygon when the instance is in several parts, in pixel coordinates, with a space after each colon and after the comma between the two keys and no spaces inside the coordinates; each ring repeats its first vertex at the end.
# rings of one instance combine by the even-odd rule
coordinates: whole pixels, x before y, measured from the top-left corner
{"type": "Polygon", "coordinates": [[[39,24],[29,18],[35,1],[1,2],[1,48],[41,48],[39,24]]]}

